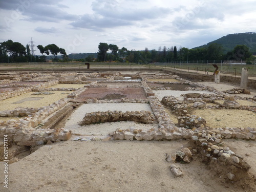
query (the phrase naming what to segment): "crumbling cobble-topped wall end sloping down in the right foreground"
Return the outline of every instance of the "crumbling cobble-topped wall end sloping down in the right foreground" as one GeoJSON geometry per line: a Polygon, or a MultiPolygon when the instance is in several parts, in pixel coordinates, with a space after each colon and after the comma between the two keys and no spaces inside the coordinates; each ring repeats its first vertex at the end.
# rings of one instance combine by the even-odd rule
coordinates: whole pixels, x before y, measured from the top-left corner
{"type": "Polygon", "coordinates": [[[211,172],[223,180],[239,181],[248,177],[251,168],[243,161],[244,157],[232,152],[222,142],[223,135],[220,132],[198,130],[191,138],[191,150],[199,154],[211,172]]]}

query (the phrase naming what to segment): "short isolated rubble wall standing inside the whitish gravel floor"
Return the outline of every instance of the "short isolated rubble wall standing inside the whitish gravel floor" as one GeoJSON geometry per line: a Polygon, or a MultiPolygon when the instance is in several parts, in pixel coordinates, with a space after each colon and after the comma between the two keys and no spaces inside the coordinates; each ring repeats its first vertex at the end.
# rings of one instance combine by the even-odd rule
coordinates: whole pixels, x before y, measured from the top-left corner
{"type": "Polygon", "coordinates": [[[117,122],[117,121],[135,121],[138,123],[152,124],[155,117],[148,111],[135,112],[121,112],[121,111],[107,111],[107,112],[92,112],[87,113],[79,125],[88,125],[93,123],[117,122]]]}

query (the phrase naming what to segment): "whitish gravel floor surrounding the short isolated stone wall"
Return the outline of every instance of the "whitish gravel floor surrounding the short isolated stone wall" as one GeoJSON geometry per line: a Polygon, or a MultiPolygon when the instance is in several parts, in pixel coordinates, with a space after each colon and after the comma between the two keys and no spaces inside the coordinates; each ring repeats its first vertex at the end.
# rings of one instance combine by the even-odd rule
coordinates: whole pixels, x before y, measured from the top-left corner
{"type": "MultiPolygon", "coordinates": [[[[107,136],[109,132],[116,131],[116,129],[128,129],[133,127],[135,129],[150,130],[156,127],[156,124],[142,124],[135,123],[132,121],[121,121],[121,122],[108,122],[108,123],[97,123],[90,125],[80,126],[78,123],[82,121],[86,113],[98,112],[98,111],[150,111],[150,104],[146,103],[99,103],[99,104],[83,104],[76,109],[71,116],[67,119],[65,129],[72,130],[73,134],[79,134],[83,136],[107,136]]],[[[152,112],[153,113],[153,112],[152,112]]]]}

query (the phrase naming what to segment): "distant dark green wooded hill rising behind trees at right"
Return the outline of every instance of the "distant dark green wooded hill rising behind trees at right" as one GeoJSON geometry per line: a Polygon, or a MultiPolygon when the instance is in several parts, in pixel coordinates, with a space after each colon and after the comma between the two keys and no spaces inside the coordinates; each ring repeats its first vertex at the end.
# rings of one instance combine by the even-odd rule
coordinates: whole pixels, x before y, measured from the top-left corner
{"type": "Polygon", "coordinates": [[[246,45],[250,48],[250,52],[253,55],[256,55],[256,33],[235,33],[223,36],[217,40],[208,42],[208,44],[195,47],[197,48],[207,48],[210,44],[220,44],[223,46],[223,53],[227,53],[228,51],[232,51],[234,47],[237,45],[246,45]]]}

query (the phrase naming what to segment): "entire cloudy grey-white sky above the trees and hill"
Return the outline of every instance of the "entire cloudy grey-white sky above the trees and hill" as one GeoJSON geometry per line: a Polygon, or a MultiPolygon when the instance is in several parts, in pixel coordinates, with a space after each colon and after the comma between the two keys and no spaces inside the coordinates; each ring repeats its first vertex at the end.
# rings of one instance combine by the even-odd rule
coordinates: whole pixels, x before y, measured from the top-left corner
{"type": "MultiPolygon", "coordinates": [[[[194,48],[231,33],[256,32],[255,0],[1,0],[0,42],[56,44],[69,53],[194,48]]],[[[35,54],[40,55],[36,48],[35,54]]]]}

